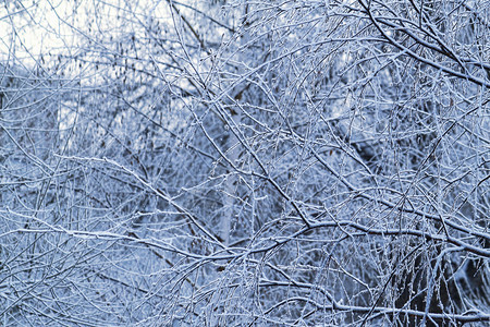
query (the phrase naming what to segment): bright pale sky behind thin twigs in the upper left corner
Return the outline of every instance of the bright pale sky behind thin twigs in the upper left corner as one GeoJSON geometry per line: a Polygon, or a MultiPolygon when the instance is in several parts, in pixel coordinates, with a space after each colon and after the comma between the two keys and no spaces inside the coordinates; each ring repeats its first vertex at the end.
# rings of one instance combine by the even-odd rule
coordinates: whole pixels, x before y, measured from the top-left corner
{"type": "Polygon", "coordinates": [[[127,32],[121,26],[131,29],[132,22],[147,23],[148,16],[168,16],[168,4],[124,0],[14,1],[0,7],[0,59],[10,56],[25,64],[34,63],[40,53],[65,53],[78,48],[82,39],[89,38],[88,34],[118,35],[127,32]]]}

